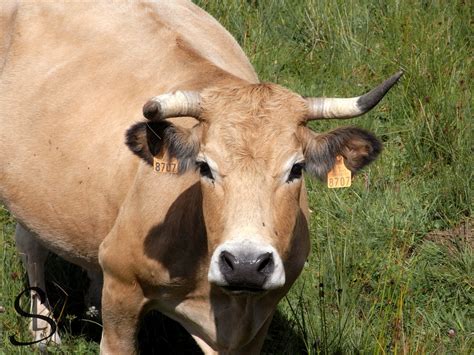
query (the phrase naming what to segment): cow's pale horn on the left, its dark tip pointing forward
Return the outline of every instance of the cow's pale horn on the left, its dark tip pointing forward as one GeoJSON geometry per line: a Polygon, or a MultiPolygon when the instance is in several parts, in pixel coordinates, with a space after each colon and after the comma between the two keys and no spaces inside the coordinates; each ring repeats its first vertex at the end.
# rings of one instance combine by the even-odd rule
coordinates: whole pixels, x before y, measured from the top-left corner
{"type": "Polygon", "coordinates": [[[143,106],[143,116],[149,120],[191,116],[201,113],[201,95],[197,91],[175,91],[152,97],[143,106]]]}

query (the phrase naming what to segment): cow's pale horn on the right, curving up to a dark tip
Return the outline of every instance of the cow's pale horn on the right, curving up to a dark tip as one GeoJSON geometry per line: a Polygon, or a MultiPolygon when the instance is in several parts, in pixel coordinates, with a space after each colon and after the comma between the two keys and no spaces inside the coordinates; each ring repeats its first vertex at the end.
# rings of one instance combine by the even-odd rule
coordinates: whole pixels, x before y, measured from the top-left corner
{"type": "Polygon", "coordinates": [[[306,120],[321,120],[325,118],[351,118],[370,111],[390,88],[403,75],[399,71],[385,80],[382,84],[362,96],[351,98],[307,97],[309,112],[306,120]]]}

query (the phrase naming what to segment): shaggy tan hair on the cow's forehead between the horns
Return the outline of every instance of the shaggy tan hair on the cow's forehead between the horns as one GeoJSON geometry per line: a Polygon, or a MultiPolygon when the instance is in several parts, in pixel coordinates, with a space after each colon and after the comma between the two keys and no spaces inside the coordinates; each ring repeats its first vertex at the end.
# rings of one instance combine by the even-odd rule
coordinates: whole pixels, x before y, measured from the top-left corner
{"type": "Polygon", "coordinates": [[[294,146],[307,112],[301,96],[270,83],[208,89],[202,98],[203,143],[218,140],[234,161],[268,160],[279,146],[294,146]]]}

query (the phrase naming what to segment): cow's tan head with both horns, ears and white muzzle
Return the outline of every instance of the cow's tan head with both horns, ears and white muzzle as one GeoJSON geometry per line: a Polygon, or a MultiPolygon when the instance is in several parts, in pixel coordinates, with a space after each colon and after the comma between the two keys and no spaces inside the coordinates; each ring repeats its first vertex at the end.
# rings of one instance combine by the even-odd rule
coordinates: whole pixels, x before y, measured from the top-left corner
{"type": "Polygon", "coordinates": [[[307,239],[303,171],[325,180],[343,156],[355,173],[381,151],[365,130],[318,134],[307,122],[367,112],[400,75],[349,99],[303,98],[275,84],[241,84],[178,91],[144,106],[149,121],[130,128],[127,144],[150,165],[165,150],[178,159],[180,173],[199,172],[211,284],[248,293],[294,281],[308,253],[301,240],[307,239]],[[199,123],[185,129],[166,120],[178,116],[199,123]]]}

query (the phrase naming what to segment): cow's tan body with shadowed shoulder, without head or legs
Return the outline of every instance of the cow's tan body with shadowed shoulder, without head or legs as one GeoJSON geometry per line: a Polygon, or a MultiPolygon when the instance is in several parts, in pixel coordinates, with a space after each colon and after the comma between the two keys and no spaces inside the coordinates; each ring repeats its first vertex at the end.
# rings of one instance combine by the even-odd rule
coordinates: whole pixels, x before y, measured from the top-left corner
{"type": "MultiPolygon", "coordinates": [[[[88,270],[98,270],[99,245],[109,235],[111,264],[123,262],[130,275],[141,264],[124,282],[145,282],[146,297],[165,300],[153,306],[216,344],[202,217],[199,208],[189,209],[199,206],[198,174],[176,179],[140,169],[124,133],[156,93],[199,89],[227,73],[257,82],[248,59],[212,17],[187,2],[7,4],[5,13],[11,17],[0,82],[1,199],[42,245],[88,270]],[[169,215],[170,209],[186,213],[169,215]],[[169,231],[151,240],[147,231],[164,221],[169,231]]],[[[127,301],[123,291],[117,296],[127,301]]],[[[246,302],[240,307],[253,313],[246,302]]],[[[234,310],[219,312],[231,332],[234,310]]]]}

